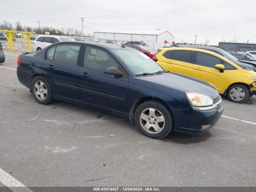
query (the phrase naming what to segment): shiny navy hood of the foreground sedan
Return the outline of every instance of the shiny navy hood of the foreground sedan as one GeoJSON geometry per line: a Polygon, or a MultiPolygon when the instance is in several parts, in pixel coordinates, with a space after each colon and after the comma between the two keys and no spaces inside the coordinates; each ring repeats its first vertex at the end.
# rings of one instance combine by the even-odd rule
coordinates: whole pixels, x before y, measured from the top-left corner
{"type": "Polygon", "coordinates": [[[175,89],[184,93],[196,92],[206,94],[212,99],[215,99],[219,96],[218,91],[212,84],[182,74],[168,72],[164,74],[138,78],[140,78],[142,81],[150,82],[150,84],[157,84],[160,92],[168,92],[168,88],[170,88],[170,90],[175,89]]]}

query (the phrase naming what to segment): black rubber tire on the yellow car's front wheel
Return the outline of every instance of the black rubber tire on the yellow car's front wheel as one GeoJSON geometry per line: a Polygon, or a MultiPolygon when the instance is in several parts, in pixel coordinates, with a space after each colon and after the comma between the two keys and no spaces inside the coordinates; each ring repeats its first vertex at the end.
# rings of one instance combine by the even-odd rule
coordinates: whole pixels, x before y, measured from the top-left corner
{"type": "MultiPolygon", "coordinates": [[[[234,95],[234,94],[233,94],[234,95]]],[[[230,88],[228,88],[228,91],[227,91],[227,96],[228,96],[228,99],[232,102],[235,102],[235,103],[243,103],[245,102],[246,100],[248,100],[249,96],[250,96],[250,93],[249,93],[249,90],[246,86],[244,85],[241,85],[241,84],[234,84],[232,85],[230,88]],[[235,90],[243,90],[244,92],[244,97],[243,98],[240,98],[238,96],[238,98],[234,98],[234,96],[232,97],[232,93],[234,93],[234,89],[235,90]],[[233,91],[232,91],[233,90],[233,91]]]]}

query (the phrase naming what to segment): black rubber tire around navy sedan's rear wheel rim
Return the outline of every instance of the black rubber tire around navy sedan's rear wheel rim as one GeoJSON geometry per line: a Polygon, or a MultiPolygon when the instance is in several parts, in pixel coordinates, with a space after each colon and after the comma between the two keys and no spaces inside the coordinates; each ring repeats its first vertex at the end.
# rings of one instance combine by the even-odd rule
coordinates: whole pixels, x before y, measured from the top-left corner
{"type": "MultiPolygon", "coordinates": [[[[50,84],[45,80],[45,78],[43,78],[42,76],[36,76],[32,82],[31,82],[31,90],[32,90],[32,94],[35,98],[35,100],[40,103],[40,104],[44,104],[44,105],[47,105],[49,104],[50,102],[52,102],[52,91],[51,91],[51,88],[50,88],[50,84]],[[36,91],[38,91],[38,88],[36,88],[36,84],[38,84],[40,86],[40,82],[42,82],[43,86],[42,88],[44,90],[46,90],[46,94],[45,93],[42,93],[43,96],[45,98],[42,98],[41,100],[38,98],[40,97],[39,96],[36,96],[36,91]]],[[[42,95],[41,94],[41,95],[42,95]]]]}

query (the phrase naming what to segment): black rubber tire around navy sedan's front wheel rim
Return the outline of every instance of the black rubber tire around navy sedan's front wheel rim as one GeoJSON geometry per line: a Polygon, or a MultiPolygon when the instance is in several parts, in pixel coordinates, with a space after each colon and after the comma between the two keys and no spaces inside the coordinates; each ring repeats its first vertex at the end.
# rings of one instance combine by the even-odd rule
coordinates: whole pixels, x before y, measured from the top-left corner
{"type": "MultiPolygon", "coordinates": [[[[158,113],[158,112],[156,112],[156,113],[158,113]]],[[[136,109],[136,112],[134,115],[134,121],[135,121],[136,127],[138,128],[138,130],[140,130],[140,132],[142,132],[144,135],[146,135],[150,138],[154,138],[154,139],[164,138],[164,137],[168,136],[170,134],[170,132],[172,132],[172,130],[173,130],[173,118],[172,118],[170,109],[168,109],[168,107],[165,106],[162,102],[159,102],[156,100],[149,100],[149,101],[146,101],[146,102],[143,102],[142,104],[140,104],[140,106],[138,106],[138,108],[136,109]],[[154,108],[154,109],[158,110],[160,113],[162,113],[162,114],[160,114],[160,116],[164,116],[165,122],[164,122],[164,124],[162,124],[162,131],[160,131],[158,133],[150,133],[150,132],[147,132],[146,130],[144,130],[144,128],[142,127],[143,122],[144,122],[144,126],[146,125],[147,122],[145,120],[140,120],[140,115],[148,108],[154,108]]],[[[152,122],[154,122],[154,120],[152,120],[152,122]]],[[[152,123],[149,126],[151,126],[151,125],[152,125],[152,123]]],[[[161,123],[160,123],[160,126],[161,126],[161,123]]],[[[150,127],[150,129],[148,131],[154,131],[154,128],[150,127]]]]}

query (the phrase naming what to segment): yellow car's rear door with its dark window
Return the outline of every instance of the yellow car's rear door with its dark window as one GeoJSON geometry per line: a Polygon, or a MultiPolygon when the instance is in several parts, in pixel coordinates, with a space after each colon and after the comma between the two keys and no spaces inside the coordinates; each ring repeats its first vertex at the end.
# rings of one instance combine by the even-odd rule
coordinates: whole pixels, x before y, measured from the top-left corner
{"type": "Polygon", "coordinates": [[[190,50],[169,50],[157,63],[167,71],[192,76],[191,54],[190,50]]]}

